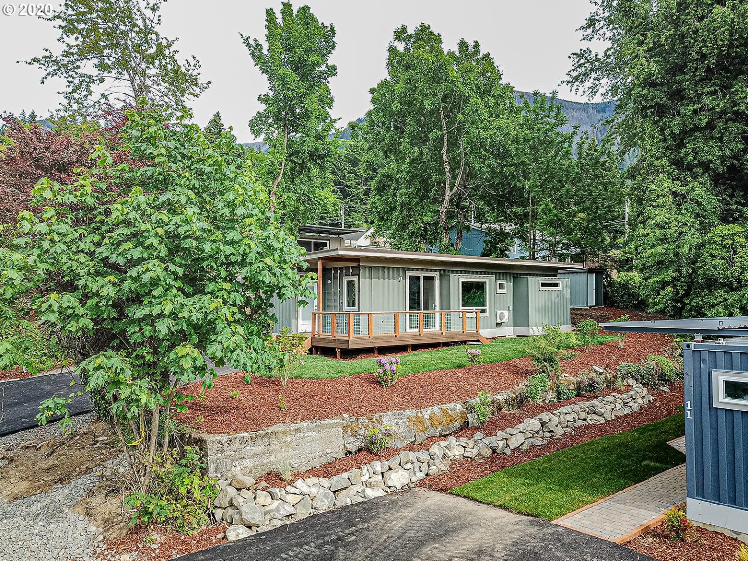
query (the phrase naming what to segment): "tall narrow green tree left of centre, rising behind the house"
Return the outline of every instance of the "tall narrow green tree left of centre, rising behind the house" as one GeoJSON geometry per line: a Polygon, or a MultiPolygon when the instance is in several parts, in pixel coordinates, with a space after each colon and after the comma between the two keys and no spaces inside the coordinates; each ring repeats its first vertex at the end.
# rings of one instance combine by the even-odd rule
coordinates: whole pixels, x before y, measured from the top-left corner
{"type": "Polygon", "coordinates": [[[266,44],[242,35],[254,64],[268,80],[269,91],[258,96],[263,109],[250,120],[251,132],[268,144],[260,173],[288,224],[315,221],[335,212],[331,178],[337,141],[330,79],[337,75],[329,59],[335,49],[335,28],[319,22],[308,6],[294,12],[283,2],[281,20],[266,12],[266,44]]]}

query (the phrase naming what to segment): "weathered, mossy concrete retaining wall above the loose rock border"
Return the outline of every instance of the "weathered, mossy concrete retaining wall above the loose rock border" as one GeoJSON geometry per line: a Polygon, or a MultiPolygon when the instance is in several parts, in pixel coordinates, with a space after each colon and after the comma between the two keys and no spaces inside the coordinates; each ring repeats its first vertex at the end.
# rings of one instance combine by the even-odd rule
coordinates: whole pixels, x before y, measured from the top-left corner
{"type": "MultiPolygon", "coordinates": [[[[491,414],[518,405],[524,385],[491,396],[491,414]]],[[[473,424],[475,399],[375,414],[370,417],[335,417],[321,421],[276,424],[235,435],[195,435],[203,449],[209,476],[231,479],[236,473],[261,476],[272,470],[305,471],[325,465],[364,448],[369,429],[390,425],[390,441],[400,448],[433,436],[446,436],[465,424],[473,424]]]]}

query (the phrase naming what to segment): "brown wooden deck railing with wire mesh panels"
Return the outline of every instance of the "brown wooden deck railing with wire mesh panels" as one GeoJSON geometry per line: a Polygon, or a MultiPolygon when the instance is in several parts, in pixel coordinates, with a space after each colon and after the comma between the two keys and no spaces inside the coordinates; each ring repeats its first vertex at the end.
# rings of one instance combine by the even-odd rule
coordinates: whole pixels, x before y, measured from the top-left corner
{"type": "Polygon", "coordinates": [[[480,310],[312,312],[312,337],[371,339],[429,333],[480,333],[480,310]]]}

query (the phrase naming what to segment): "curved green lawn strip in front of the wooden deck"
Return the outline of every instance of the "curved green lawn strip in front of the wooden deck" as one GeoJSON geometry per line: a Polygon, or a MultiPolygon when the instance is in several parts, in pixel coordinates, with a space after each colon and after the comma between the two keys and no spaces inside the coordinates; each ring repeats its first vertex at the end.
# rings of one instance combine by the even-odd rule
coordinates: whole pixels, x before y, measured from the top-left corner
{"type": "MultiPolygon", "coordinates": [[[[602,344],[614,340],[614,335],[598,335],[597,343],[602,344]]],[[[489,345],[477,346],[481,353],[483,364],[491,362],[511,361],[513,358],[527,356],[527,345],[533,337],[508,337],[494,340],[489,345]]],[[[382,356],[387,356],[383,354],[382,356]]],[[[450,368],[467,367],[470,365],[464,345],[432,349],[429,351],[414,351],[400,357],[400,375],[428,372],[429,370],[446,370],[450,368]]],[[[294,378],[340,378],[374,372],[375,358],[362,358],[358,361],[336,361],[319,355],[307,355],[304,364],[298,369],[294,378]]]]}

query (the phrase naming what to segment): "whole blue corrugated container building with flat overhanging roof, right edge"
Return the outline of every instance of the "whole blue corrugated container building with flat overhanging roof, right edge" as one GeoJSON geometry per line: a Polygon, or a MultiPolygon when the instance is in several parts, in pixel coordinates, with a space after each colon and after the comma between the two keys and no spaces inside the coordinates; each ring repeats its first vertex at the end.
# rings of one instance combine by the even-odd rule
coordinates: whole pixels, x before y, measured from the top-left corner
{"type": "Polygon", "coordinates": [[[687,515],[748,539],[748,316],[603,327],[695,335],[683,345],[687,515]]]}

